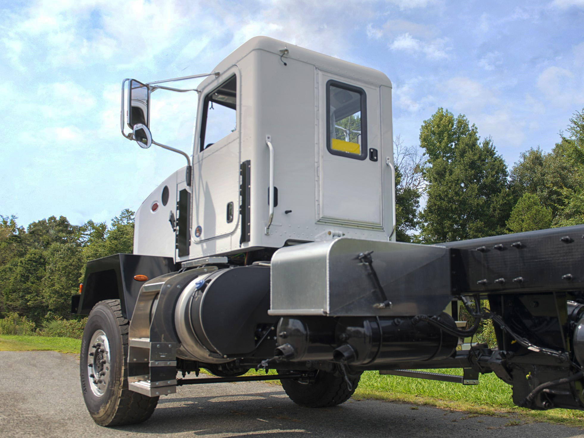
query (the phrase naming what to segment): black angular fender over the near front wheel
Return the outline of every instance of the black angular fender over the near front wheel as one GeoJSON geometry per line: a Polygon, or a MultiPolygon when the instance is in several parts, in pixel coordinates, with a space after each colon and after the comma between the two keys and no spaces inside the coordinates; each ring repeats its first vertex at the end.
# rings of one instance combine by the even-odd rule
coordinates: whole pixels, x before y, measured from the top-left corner
{"type": "Polygon", "coordinates": [[[171,257],[114,254],[91,260],[85,269],[81,295],[71,298],[71,312],[89,315],[99,301],[119,299],[122,315],[130,319],[138,292],[144,284],[144,281],[134,280],[134,276],[145,275],[148,279],[153,279],[176,270],[171,257]]]}

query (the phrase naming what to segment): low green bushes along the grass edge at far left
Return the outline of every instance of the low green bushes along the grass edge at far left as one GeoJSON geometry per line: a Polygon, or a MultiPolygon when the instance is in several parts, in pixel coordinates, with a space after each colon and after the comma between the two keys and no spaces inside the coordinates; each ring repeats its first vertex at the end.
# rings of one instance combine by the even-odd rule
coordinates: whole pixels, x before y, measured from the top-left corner
{"type": "Polygon", "coordinates": [[[25,335],[25,336],[50,336],[60,338],[81,339],[87,318],[64,319],[51,317],[36,328],[34,322],[18,314],[8,314],[8,317],[0,319],[0,335],[25,335]]]}

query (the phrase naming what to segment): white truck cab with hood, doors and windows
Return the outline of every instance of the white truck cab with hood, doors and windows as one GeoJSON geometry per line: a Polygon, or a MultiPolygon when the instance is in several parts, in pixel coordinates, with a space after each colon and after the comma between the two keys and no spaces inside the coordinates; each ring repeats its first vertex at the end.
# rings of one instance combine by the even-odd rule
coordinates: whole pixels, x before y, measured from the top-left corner
{"type": "MultiPolygon", "coordinates": [[[[180,169],[142,203],[134,253],[182,262],[330,236],[395,239],[385,74],[255,37],[197,92],[192,182],[180,169]]],[[[128,111],[144,112],[144,100],[128,111]]]]}

